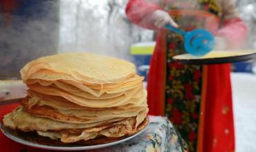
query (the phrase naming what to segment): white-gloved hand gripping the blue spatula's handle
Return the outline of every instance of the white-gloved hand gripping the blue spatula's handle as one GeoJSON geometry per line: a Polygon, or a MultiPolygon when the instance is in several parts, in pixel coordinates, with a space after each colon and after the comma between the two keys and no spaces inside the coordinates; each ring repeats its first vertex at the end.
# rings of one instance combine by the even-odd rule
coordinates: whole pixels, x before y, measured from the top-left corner
{"type": "Polygon", "coordinates": [[[178,25],[174,22],[172,17],[170,17],[170,14],[163,10],[156,10],[152,14],[152,21],[154,21],[154,25],[156,28],[165,28],[165,25],[169,23],[170,25],[174,26],[175,28],[178,28],[178,25]]]}

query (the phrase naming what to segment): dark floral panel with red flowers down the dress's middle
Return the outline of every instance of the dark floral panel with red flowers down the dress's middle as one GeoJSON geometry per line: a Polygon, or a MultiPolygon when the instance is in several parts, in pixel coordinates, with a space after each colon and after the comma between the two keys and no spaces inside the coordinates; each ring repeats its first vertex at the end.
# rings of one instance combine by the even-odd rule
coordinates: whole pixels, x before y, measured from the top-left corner
{"type": "MultiPolygon", "coordinates": [[[[172,1],[165,10],[190,9],[205,10],[219,15],[214,0],[172,1]]],[[[205,19],[196,16],[172,16],[179,27],[185,31],[204,28],[205,19]]],[[[183,65],[174,61],[172,56],[185,53],[183,36],[174,32],[166,34],[167,81],[165,88],[165,116],[170,118],[182,137],[188,142],[189,151],[196,151],[201,104],[202,66],[183,65]]]]}

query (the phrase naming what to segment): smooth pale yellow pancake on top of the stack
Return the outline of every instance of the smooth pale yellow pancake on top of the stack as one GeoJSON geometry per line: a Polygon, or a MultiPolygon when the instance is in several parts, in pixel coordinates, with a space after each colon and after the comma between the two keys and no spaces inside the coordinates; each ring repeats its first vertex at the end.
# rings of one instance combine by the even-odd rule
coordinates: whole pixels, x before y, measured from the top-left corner
{"type": "MultiPolygon", "coordinates": [[[[92,84],[120,83],[136,74],[132,63],[110,56],[84,52],[56,54],[31,61],[21,69],[22,80],[26,82],[30,76],[41,69],[63,74],[61,79],[64,80],[72,78],[72,80],[92,84]]],[[[57,76],[56,80],[60,80],[60,76],[57,76]]]]}

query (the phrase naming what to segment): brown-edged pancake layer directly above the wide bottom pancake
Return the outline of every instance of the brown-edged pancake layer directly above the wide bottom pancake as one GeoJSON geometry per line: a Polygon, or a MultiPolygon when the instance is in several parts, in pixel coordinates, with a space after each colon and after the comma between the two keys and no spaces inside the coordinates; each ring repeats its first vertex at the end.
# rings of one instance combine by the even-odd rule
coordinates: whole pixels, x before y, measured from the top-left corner
{"type": "MultiPolygon", "coordinates": [[[[147,107],[133,107],[131,109],[54,109],[53,107],[42,105],[28,105],[28,99],[24,99],[21,102],[25,110],[35,116],[43,118],[51,118],[52,120],[57,120],[60,122],[69,123],[93,123],[111,120],[113,118],[129,118],[133,116],[138,116],[139,113],[148,111],[147,107]]],[[[141,117],[138,116],[138,117],[141,117]]],[[[142,115],[142,117],[145,117],[142,115]]],[[[141,119],[141,118],[138,118],[141,119]]],[[[140,122],[140,121],[138,121],[140,122]]],[[[136,124],[137,126],[137,124],[136,124]]]]}

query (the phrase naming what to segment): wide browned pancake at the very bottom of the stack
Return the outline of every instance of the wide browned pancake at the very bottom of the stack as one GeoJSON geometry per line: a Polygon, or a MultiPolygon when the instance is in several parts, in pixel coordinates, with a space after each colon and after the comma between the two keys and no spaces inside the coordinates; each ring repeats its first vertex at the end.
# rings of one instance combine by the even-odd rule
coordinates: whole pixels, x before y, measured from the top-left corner
{"type": "MultiPolygon", "coordinates": [[[[146,118],[146,117],[145,117],[146,118]]],[[[145,120],[143,118],[143,121],[145,120]]],[[[79,140],[90,140],[97,135],[104,135],[110,138],[118,138],[125,135],[136,133],[136,117],[130,117],[119,121],[113,121],[111,124],[97,124],[94,127],[87,124],[71,124],[54,121],[46,118],[37,118],[24,111],[23,107],[17,108],[3,118],[3,124],[11,129],[21,131],[37,131],[39,135],[47,136],[51,139],[58,139],[62,142],[77,142],[79,140]],[[21,119],[22,118],[22,119],[21,119]],[[49,126],[51,125],[51,126],[49,126]],[[65,127],[63,127],[65,126],[65,127]],[[69,129],[82,129],[82,133],[70,133],[69,129]],[[51,129],[49,129],[51,128],[51,129]]],[[[141,121],[139,124],[141,124],[141,121]]]]}

